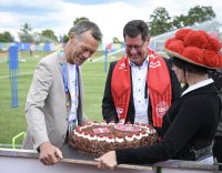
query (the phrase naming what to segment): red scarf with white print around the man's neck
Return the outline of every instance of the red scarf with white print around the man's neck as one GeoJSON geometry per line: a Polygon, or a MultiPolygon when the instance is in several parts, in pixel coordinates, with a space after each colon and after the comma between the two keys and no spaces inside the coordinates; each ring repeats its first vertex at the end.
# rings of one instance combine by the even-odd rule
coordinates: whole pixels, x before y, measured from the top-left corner
{"type": "MultiPolygon", "coordinates": [[[[164,60],[154,51],[149,51],[149,70],[147,84],[152,105],[152,121],[154,126],[162,126],[162,116],[171,105],[171,81],[164,60]]],[[[112,73],[111,93],[113,96],[119,121],[127,119],[131,95],[131,70],[129,59],[120,59],[112,73]]]]}

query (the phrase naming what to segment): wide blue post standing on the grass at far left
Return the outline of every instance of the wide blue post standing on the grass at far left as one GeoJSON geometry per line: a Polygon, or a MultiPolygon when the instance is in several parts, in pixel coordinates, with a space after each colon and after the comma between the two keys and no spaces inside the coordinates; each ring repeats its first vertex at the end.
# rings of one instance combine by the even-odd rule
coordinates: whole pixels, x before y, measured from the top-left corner
{"type": "Polygon", "coordinates": [[[9,71],[11,83],[11,106],[18,106],[18,47],[9,47],[9,71]]]}

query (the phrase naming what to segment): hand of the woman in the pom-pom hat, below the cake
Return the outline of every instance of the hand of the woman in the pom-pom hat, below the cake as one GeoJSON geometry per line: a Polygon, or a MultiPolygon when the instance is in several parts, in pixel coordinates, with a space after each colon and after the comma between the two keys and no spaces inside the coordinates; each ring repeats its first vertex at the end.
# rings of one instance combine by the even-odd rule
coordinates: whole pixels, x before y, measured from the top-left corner
{"type": "Polygon", "coordinates": [[[98,167],[104,170],[113,170],[118,164],[115,151],[110,151],[103,154],[101,157],[94,160],[98,161],[98,167]]]}

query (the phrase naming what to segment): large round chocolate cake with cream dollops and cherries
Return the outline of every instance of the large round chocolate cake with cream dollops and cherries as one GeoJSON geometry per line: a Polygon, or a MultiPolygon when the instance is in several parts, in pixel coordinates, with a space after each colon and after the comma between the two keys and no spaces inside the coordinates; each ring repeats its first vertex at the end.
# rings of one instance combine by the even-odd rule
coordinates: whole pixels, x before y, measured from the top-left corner
{"type": "Polygon", "coordinates": [[[69,140],[71,147],[101,155],[108,151],[157,143],[157,131],[148,124],[88,123],[77,126],[69,140]]]}

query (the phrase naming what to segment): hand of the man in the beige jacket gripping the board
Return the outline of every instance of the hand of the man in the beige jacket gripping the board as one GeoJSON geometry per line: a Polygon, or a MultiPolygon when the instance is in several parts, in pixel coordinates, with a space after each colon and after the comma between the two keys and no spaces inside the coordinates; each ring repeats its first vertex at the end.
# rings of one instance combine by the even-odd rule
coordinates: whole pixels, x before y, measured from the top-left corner
{"type": "Polygon", "coordinates": [[[53,165],[61,159],[63,159],[63,156],[59,147],[56,147],[50,142],[44,142],[40,145],[39,160],[44,165],[53,165]]]}

